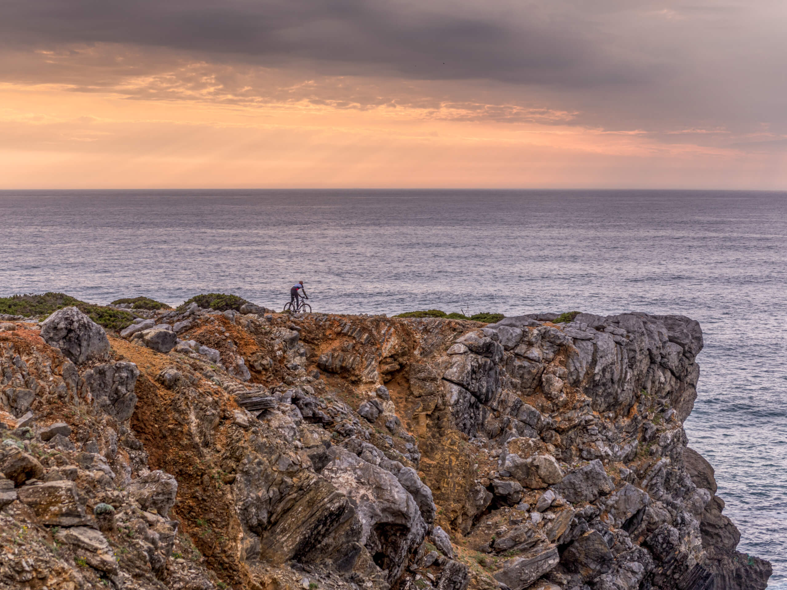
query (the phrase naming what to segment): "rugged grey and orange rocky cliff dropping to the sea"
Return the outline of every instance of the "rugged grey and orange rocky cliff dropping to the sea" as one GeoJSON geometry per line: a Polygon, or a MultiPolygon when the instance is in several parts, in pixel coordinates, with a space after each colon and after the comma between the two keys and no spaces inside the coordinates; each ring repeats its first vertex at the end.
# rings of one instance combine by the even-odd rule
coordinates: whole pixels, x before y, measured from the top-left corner
{"type": "Polygon", "coordinates": [[[76,308],[0,324],[0,588],[765,588],[700,326],[76,308]]]}

